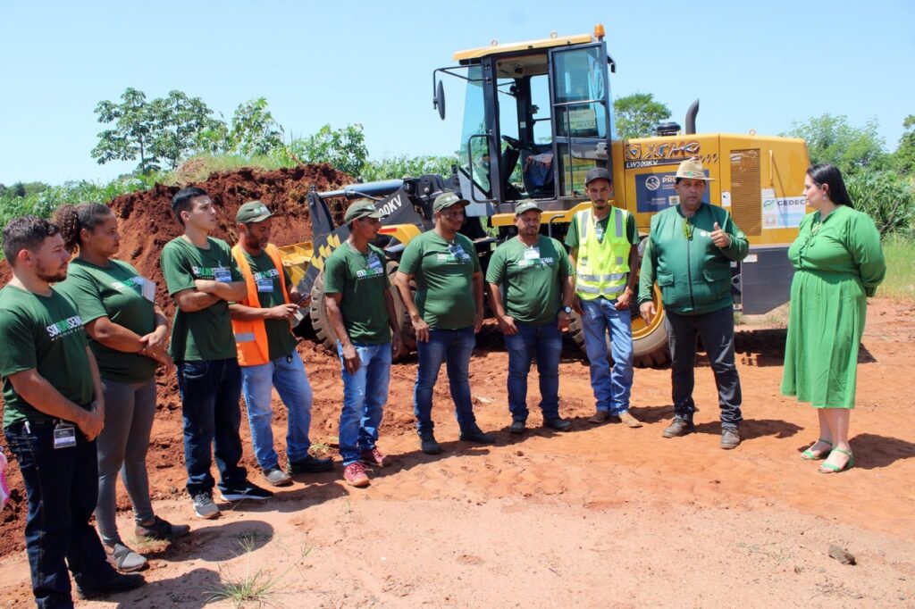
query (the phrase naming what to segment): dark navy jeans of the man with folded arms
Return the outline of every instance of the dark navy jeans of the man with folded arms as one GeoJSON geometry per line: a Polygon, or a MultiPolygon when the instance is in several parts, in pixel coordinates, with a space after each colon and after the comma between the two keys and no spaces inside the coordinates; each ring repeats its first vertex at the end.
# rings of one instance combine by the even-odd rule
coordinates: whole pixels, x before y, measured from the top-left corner
{"type": "Polygon", "coordinates": [[[242,411],[242,372],[238,360],[212,359],[178,362],[178,390],[184,415],[184,465],[188,470],[188,493],[211,493],[212,445],[220,469],[220,488],[242,484],[247,479],[242,459],[239,428],[242,411]]]}

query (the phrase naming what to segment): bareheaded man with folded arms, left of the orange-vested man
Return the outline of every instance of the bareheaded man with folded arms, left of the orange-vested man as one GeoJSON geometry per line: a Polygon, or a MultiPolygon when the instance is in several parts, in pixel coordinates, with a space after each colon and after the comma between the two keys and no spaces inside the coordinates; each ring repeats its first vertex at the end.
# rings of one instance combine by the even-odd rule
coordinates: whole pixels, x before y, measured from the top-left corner
{"type": "Polygon", "coordinates": [[[218,518],[220,508],[213,503],[215,481],[210,474],[213,452],[224,500],[273,497],[249,482],[239,465],[242,373],[229,302],[244,298],[246,289],[229,244],[210,237],[217,228],[216,208],[206,191],[198,187],[178,190],[172,197],[172,211],[184,234],[166,243],[160,262],[168,294],[177,308],[169,350],[178,367],[187,489],[199,518],[218,518]]]}

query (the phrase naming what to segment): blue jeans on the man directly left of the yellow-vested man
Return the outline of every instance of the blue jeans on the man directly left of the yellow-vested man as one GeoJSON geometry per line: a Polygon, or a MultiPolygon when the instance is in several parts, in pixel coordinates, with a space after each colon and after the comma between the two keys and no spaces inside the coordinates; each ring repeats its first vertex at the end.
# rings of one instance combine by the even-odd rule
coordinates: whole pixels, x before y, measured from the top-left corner
{"type": "Polygon", "coordinates": [[[505,335],[509,351],[509,411],[512,421],[527,421],[527,375],[531,360],[537,358],[540,377],[540,409],[544,421],[559,416],[559,354],[563,350],[563,333],[552,321],[543,326],[520,324],[518,334],[505,335]]]}

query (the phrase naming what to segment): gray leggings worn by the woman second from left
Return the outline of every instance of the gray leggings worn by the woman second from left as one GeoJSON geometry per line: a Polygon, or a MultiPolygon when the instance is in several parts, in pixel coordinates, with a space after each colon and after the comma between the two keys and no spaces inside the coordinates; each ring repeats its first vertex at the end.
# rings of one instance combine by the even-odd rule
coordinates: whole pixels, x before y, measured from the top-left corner
{"type": "Polygon", "coordinates": [[[105,396],[105,426],[96,440],[99,455],[99,503],[95,520],[102,542],[121,541],[114,519],[117,475],[121,472],[137,522],[153,519],[146,474],[146,448],[156,414],[156,379],[124,383],[102,379],[105,396]]]}

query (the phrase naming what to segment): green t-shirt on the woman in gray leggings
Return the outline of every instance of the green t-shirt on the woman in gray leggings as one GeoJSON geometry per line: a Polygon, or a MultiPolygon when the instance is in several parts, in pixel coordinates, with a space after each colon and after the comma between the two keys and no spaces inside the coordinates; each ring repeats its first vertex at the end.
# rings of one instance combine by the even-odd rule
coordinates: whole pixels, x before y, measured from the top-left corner
{"type": "MultiPolygon", "coordinates": [[[[108,317],[141,337],[156,329],[153,303],[143,297],[145,279],[126,262],[113,260],[107,267],[95,266],[77,258],[70,262],[67,281],[55,289],[70,296],[88,324],[108,317]]],[[[89,337],[89,347],[99,364],[102,379],[138,383],[153,378],[156,360],[139,353],[126,353],[89,337]]]]}

